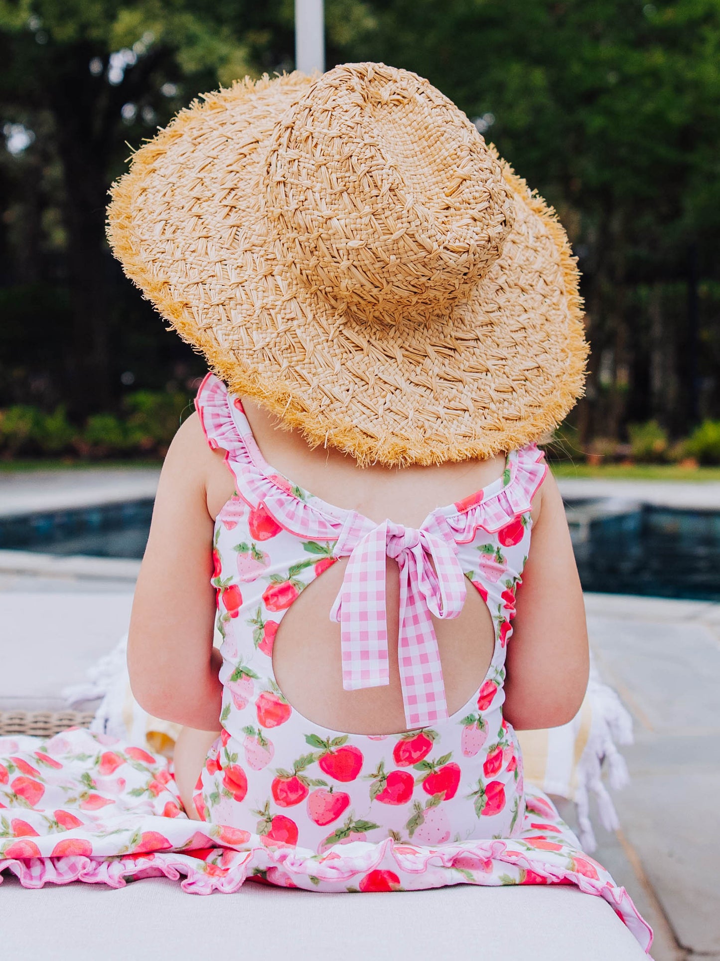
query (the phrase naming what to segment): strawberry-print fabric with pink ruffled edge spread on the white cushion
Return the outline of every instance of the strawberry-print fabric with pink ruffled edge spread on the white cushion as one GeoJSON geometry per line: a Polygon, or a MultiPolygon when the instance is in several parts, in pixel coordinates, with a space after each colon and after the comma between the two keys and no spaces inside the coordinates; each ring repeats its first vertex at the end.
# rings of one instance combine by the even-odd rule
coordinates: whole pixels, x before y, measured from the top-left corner
{"type": "Polygon", "coordinates": [[[535,788],[512,839],[428,846],[350,838],[316,853],[283,843],[273,834],[278,823],[260,835],[190,821],[167,761],[108,735],[74,728],[47,742],[6,738],[0,751],[0,879],[8,871],[25,887],[79,880],[117,888],[155,876],[183,878],[193,894],[229,894],[248,879],[328,893],[574,884],[607,900],[650,949],[652,931],[630,896],[535,788]]]}

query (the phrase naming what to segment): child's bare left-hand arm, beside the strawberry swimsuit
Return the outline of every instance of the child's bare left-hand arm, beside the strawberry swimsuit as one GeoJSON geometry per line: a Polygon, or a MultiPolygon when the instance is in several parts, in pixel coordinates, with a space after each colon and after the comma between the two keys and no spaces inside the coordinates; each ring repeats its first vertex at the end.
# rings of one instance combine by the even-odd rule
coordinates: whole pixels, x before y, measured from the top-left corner
{"type": "Polygon", "coordinates": [[[222,658],[212,648],[213,518],[205,495],[212,456],[193,414],[162,467],[128,637],[137,702],[154,717],[202,730],[220,729],[222,700],[222,658]]]}

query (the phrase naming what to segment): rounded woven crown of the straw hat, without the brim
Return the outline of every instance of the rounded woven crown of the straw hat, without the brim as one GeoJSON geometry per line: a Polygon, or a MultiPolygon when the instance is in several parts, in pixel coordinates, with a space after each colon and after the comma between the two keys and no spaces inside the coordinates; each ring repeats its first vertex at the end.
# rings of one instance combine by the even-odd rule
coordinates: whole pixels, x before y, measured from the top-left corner
{"type": "Polygon", "coordinates": [[[276,249],[337,308],[428,316],[462,298],[513,227],[500,162],[407,70],[349,63],[276,125],[265,168],[276,249]]]}

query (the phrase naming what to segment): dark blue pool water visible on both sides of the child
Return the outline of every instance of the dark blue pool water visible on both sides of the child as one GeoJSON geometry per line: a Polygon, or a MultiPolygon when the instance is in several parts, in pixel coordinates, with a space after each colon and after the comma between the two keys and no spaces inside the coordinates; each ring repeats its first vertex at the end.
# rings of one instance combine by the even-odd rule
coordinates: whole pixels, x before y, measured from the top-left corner
{"type": "MultiPolygon", "coordinates": [[[[720,511],[565,502],[583,587],[720,601],[720,511]]],[[[0,550],[142,557],[152,498],[0,518],[0,550]]]]}

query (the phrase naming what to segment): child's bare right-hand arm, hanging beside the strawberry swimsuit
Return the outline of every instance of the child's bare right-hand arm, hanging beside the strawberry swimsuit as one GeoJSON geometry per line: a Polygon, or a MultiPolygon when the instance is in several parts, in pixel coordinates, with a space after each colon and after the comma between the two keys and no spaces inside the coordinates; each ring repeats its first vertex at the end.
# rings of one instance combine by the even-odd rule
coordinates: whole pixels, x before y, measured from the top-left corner
{"type": "Polygon", "coordinates": [[[516,611],[504,714],[518,730],[567,724],[588,686],[588,628],[563,499],[549,471],[516,611]]]}

